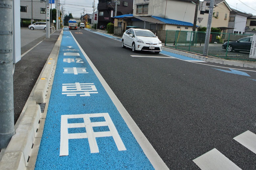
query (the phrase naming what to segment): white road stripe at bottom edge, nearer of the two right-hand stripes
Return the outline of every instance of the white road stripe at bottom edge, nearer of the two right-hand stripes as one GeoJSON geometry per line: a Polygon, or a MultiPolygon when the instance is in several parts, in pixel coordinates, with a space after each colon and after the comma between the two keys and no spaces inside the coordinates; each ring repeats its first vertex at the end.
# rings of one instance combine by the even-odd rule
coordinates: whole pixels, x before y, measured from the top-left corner
{"type": "Polygon", "coordinates": [[[202,170],[242,170],[216,148],[193,160],[202,170]]]}

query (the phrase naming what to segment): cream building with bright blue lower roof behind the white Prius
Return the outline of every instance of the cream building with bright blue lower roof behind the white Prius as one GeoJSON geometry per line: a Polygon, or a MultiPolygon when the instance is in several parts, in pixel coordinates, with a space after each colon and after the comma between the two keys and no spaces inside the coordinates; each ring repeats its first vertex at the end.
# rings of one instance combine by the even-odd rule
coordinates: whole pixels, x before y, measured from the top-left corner
{"type": "Polygon", "coordinates": [[[133,25],[151,30],[192,31],[196,0],[134,0],[133,25]],[[192,3],[193,2],[193,3],[192,3]]]}

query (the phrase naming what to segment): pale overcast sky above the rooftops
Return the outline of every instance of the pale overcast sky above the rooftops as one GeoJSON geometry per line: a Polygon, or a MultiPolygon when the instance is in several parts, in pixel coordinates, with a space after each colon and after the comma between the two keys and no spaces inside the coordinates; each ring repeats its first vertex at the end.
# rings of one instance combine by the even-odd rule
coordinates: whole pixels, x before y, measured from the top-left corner
{"type": "MultiPolygon", "coordinates": [[[[93,2],[94,0],[60,0],[65,9],[64,14],[72,13],[73,17],[80,17],[83,12],[92,14],[93,2]]],[[[226,0],[226,2],[230,8],[256,15],[256,0],[226,0]]],[[[98,0],[95,0],[95,11],[97,4],[98,0]]],[[[52,8],[55,8],[55,5],[52,5],[52,8]]]]}

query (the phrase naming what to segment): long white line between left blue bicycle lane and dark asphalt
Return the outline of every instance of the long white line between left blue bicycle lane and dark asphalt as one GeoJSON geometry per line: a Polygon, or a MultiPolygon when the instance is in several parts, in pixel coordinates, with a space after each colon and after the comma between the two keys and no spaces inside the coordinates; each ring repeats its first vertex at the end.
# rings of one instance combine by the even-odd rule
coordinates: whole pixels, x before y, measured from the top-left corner
{"type": "MultiPolygon", "coordinates": [[[[71,33],[73,36],[73,34],[71,33]]],[[[104,80],[104,78],[101,76],[97,68],[94,66],[93,62],[90,60],[90,58],[86,55],[82,47],[79,45],[79,43],[76,41],[75,37],[73,36],[76,44],[78,45],[79,49],[83,53],[84,57],[86,58],[87,62],[93,69],[94,73],[98,77],[100,83],[108,93],[109,97],[117,107],[117,110],[121,114],[122,118],[124,119],[125,123],[131,130],[132,134],[134,135],[135,139],[139,143],[140,147],[142,148],[143,152],[147,156],[150,163],[153,165],[155,169],[160,170],[169,170],[169,168],[166,166],[164,161],[161,159],[161,157],[158,155],[157,151],[153,148],[153,146],[149,143],[145,135],[142,133],[142,131],[139,129],[138,125],[134,122],[130,114],[127,112],[127,110],[123,107],[122,103],[118,100],[116,94],[111,90],[107,82],[104,80]]]]}

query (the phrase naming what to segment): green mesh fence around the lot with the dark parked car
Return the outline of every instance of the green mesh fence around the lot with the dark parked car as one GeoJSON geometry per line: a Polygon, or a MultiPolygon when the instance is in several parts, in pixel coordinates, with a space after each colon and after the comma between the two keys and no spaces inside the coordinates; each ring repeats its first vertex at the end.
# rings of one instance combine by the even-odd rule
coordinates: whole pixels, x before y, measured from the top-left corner
{"type": "MultiPolygon", "coordinates": [[[[165,46],[203,54],[205,32],[167,30],[165,46]]],[[[249,58],[252,35],[211,32],[208,55],[223,59],[256,61],[249,58]]]]}

